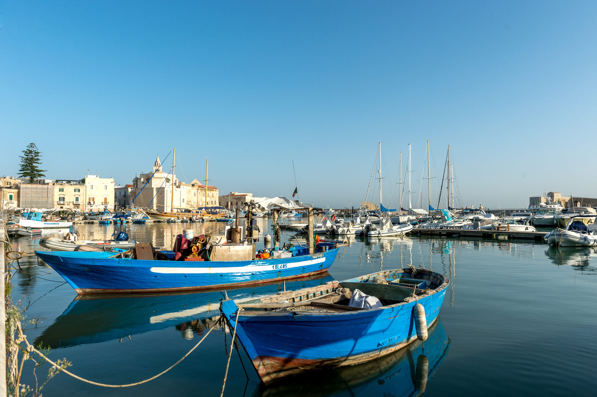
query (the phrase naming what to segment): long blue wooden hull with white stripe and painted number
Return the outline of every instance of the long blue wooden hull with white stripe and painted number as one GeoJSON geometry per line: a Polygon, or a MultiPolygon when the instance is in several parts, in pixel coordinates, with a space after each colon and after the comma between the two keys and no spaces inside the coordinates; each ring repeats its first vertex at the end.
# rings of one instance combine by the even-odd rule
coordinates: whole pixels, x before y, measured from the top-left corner
{"type": "Polygon", "coordinates": [[[79,294],[129,293],[216,289],[290,280],[326,271],[338,252],[336,243],[319,243],[309,255],[301,246],[290,248],[290,258],[231,261],[110,258],[113,252],[35,251],[79,294]]]}

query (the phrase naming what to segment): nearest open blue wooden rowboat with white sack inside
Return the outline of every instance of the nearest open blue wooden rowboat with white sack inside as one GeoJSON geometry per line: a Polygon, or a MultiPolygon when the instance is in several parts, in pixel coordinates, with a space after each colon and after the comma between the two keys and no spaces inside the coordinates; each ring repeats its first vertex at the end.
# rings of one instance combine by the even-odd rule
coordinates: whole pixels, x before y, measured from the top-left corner
{"type": "Polygon", "coordinates": [[[432,271],[417,269],[413,274],[411,269],[398,269],[290,291],[257,303],[237,305],[224,300],[221,310],[230,326],[236,326],[261,380],[269,384],[304,371],[370,361],[407,346],[417,339],[418,303],[424,308],[425,324],[432,325],[448,283],[447,277],[432,271]],[[347,306],[347,295],[355,289],[376,296],[383,306],[347,306]]]}

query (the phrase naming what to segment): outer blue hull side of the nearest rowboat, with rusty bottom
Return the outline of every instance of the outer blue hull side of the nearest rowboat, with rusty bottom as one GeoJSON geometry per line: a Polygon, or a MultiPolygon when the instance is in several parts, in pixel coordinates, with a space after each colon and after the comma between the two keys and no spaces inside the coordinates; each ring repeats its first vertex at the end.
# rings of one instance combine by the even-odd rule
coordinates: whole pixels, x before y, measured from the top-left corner
{"type": "MultiPolygon", "coordinates": [[[[404,272],[399,269],[364,277],[390,277],[404,272]]],[[[435,272],[427,273],[440,281],[435,292],[420,296],[416,302],[338,313],[241,311],[236,334],[265,384],[316,368],[370,361],[417,338],[413,312],[417,302],[424,306],[427,324],[435,322],[449,280],[435,272]]],[[[234,327],[238,310],[235,302],[224,300],[221,309],[234,327]]]]}

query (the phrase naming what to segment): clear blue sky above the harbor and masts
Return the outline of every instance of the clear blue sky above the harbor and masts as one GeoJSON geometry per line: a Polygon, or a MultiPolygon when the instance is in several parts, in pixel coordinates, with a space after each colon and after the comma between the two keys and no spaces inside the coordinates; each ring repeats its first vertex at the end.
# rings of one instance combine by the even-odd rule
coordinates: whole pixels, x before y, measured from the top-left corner
{"type": "Polygon", "coordinates": [[[420,192],[429,138],[432,201],[448,144],[463,205],[521,207],[544,189],[597,197],[595,1],[2,1],[0,12],[0,174],[36,142],[48,178],[89,169],[126,184],[177,147],[183,181],[204,179],[210,157],[222,193],[291,196],[294,160],[301,200],[343,207],[364,200],[377,141],[384,190],[411,142],[420,192]]]}

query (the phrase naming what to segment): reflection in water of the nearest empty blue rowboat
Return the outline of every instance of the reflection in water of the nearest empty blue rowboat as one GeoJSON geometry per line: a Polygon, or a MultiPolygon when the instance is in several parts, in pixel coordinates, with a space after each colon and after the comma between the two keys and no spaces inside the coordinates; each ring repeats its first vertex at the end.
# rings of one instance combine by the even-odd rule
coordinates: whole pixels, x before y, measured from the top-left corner
{"type": "Polygon", "coordinates": [[[450,350],[450,339],[441,319],[438,320],[429,328],[429,338],[424,343],[417,339],[405,348],[373,361],[287,377],[282,382],[261,386],[253,395],[398,397],[424,393],[427,382],[450,350]]]}

